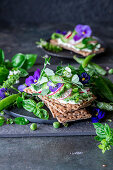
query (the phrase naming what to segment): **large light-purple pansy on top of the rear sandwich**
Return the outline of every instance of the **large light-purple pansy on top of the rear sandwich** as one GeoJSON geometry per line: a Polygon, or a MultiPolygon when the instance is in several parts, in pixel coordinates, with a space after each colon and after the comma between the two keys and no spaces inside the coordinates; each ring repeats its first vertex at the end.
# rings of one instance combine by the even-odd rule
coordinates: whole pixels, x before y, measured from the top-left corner
{"type": "Polygon", "coordinates": [[[77,34],[73,37],[75,41],[78,41],[81,38],[90,37],[92,34],[92,30],[89,25],[79,24],[75,27],[75,31],[77,32],[77,34]]]}

